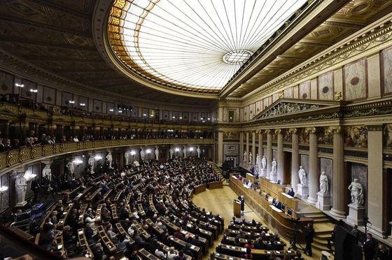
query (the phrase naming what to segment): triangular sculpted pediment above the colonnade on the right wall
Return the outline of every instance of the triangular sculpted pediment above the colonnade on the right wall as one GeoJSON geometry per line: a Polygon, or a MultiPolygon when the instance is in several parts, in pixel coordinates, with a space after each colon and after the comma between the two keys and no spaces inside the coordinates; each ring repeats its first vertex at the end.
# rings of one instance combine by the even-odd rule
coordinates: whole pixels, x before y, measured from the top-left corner
{"type": "Polygon", "coordinates": [[[253,120],[262,120],[270,117],[281,117],[307,113],[311,110],[340,106],[342,101],[322,101],[316,99],[278,99],[253,117],[253,120]]]}

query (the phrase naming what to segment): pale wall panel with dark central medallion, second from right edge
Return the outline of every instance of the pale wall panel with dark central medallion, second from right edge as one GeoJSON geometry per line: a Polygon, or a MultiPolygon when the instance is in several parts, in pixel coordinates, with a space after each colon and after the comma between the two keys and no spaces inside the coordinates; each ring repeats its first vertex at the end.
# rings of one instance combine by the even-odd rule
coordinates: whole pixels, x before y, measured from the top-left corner
{"type": "Polygon", "coordinates": [[[356,101],[367,97],[366,59],[343,67],[344,99],[356,101]]]}

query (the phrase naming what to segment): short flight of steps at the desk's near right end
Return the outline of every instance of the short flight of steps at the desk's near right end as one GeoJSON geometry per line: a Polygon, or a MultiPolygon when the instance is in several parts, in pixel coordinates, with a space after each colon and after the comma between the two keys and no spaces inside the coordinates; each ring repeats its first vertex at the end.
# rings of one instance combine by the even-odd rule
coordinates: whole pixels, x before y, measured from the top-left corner
{"type": "MultiPolygon", "coordinates": [[[[327,239],[330,238],[331,233],[333,231],[333,224],[330,222],[328,217],[323,212],[309,212],[304,213],[304,217],[309,217],[314,220],[314,238],[313,244],[311,244],[316,250],[319,251],[328,251],[331,250],[328,248],[327,239]]],[[[333,242],[331,241],[332,250],[333,250],[333,242]]]]}

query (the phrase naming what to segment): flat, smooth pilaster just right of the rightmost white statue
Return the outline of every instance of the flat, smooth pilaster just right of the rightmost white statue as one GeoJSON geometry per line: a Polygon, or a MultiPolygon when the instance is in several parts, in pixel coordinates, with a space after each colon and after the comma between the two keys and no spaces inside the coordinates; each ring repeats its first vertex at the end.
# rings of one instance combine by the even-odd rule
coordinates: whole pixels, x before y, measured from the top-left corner
{"type": "MultiPolygon", "coordinates": [[[[369,231],[376,236],[386,236],[386,212],[383,210],[383,196],[385,180],[383,180],[383,159],[382,159],[382,125],[367,126],[367,187],[365,190],[365,203],[367,200],[367,217],[372,225],[369,231]],[[370,177],[371,176],[371,177],[370,177]]],[[[387,187],[388,189],[389,187],[387,187]]]]}

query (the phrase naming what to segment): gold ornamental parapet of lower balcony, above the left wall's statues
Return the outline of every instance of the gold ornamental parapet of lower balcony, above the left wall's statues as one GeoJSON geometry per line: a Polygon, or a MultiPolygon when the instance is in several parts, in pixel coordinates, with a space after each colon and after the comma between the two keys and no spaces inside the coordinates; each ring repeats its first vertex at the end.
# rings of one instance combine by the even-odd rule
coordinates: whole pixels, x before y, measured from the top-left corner
{"type": "Polygon", "coordinates": [[[36,145],[0,153],[0,175],[8,168],[26,164],[29,161],[52,157],[54,155],[84,150],[137,146],[137,145],[210,145],[214,139],[168,138],[168,139],[127,139],[127,140],[93,140],[87,142],[56,143],[36,145]]]}

